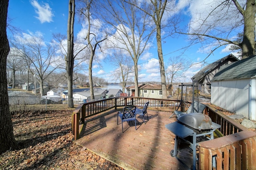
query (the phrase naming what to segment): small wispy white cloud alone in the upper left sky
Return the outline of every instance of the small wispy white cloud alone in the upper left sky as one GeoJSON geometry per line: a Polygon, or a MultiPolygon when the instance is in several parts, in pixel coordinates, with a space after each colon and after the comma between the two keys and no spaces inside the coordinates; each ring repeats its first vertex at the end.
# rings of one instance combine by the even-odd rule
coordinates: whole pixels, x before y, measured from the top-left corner
{"type": "Polygon", "coordinates": [[[36,0],[32,0],[30,3],[35,8],[36,14],[38,14],[36,18],[40,20],[41,23],[52,21],[54,15],[52,14],[52,8],[50,8],[49,4],[43,3],[40,5],[36,0]]]}

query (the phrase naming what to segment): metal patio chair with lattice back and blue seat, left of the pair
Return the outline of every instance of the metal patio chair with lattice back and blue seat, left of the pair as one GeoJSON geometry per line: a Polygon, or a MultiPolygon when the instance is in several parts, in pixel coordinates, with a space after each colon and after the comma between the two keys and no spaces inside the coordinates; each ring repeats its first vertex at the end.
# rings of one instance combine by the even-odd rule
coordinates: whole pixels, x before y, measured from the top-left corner
{"type": "Polygon", "coordinates": [[[124,129],[123,129],[123,122],[124,121],[134,121],[135,122],[135,130],[137,130],[136,128],[136,106],[126,106],[123,109],[123,113],[121,113],[120,111],[118,111],[117,113],[117,125],[118,125],[118,117],[120,117],[121,121],[122,121],[122,132],[124,133],[124,129]]]}

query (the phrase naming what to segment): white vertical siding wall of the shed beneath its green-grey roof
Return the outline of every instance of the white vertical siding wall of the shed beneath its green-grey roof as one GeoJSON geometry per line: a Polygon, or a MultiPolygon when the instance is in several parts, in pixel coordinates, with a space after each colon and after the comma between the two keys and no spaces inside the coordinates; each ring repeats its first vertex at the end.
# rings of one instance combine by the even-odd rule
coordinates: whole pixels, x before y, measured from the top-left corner
{"type": "Polygon", "coordinates": [[[249,83],[249,79],[213,81],[212,104],[248,118],[249,83]]]}

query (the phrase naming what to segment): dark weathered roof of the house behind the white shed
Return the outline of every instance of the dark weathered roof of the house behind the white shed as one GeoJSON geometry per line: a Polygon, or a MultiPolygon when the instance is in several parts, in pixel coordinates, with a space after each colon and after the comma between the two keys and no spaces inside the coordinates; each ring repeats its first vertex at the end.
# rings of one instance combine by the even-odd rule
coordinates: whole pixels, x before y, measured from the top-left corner
{"type": "Polygon", "coordinates": [[[202,68],[202,70],[198,71],[191,79],[192,81],[202,81],[204,80],[204,77],[209,74],[210,72],[212,72],[213,70],[216,69],[217,66],[219,66],[220,64],[222,64],[224,61],[238,61],[238,59],[230,54],[227,55],[226,57],[223,57],[222,59],[219,59],[217,61],[215,61],[214,63],[208,64],[207,66],[205,66],[204,68],[202,68]]]}

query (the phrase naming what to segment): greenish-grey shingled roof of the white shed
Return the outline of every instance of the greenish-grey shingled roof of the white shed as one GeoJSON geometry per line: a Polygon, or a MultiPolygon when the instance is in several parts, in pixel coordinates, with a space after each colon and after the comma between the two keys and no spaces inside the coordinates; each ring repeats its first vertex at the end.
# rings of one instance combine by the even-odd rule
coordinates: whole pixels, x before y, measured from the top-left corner
{"type": "Polygon", "coordinates": [[[252,78],[256,76],[256,56],[220,68],[212,81],[252,78]]]}

